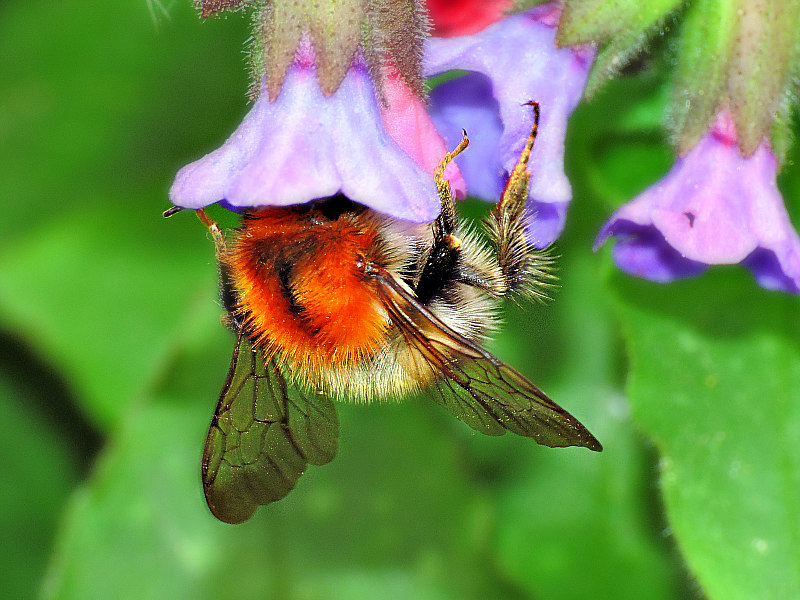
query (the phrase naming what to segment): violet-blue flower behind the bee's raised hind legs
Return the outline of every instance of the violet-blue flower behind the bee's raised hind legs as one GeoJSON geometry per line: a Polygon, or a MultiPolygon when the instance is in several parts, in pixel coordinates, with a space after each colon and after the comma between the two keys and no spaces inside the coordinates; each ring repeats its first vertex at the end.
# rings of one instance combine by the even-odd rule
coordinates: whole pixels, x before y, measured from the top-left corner
{"type": "Polygon", "coordinates": [[[459,157],[469,193],[495,201],[530,131],[525,104],[541,106],[533,149],[530,202],[536,218],[531,241],[550,244],[564,228],[572,190],[564,173],[567,118],[583,94],[594,49],[555,46],[559,8],[554,3],[507,17],[474,35],[430,39],[425,70],[470,71],[431,93],[431,116],[452,145],[466,129],[472,142],[459,157]]]}

